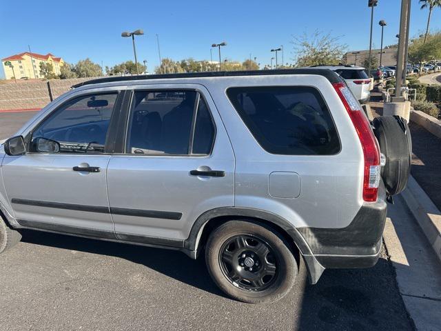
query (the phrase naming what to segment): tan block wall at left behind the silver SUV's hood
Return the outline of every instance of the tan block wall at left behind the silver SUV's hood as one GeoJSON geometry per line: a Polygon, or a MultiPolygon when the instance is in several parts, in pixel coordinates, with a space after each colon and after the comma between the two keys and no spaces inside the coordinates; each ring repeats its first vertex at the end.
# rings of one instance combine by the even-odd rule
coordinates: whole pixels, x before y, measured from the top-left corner
{"type": "Polygon", "coordinates": [[[0,85],[0,110],[43,108],[50,103],[48,82],[52,97],[70,90],[72,85],[94,78],[50,79],[49,81],[17,81],[0,85]]]}

